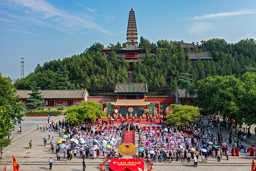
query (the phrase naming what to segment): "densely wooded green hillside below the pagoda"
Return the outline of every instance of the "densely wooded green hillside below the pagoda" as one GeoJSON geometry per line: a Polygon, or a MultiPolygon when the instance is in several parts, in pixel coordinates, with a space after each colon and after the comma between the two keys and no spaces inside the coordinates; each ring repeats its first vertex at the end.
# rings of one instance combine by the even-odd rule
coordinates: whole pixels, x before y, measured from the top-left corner
{"type": "MultiPolygon", "coordinates": [[[[45,62],[43,66],[37,64],[34,73],[15,82],[17,89],[30,89],[33,81],[41,89],[90,89],[91,86],[114,86],[116,82],[127,83],[129,67],[122,57],[118,62],[116,52],[119,52],[125,43],[110,44],[112,51],[108,59],[103,53],[103,45],[93,44],[84,53],[65,57],[60,60],[45,62]]],[[[213,60],[197,60],[191,67],[191,61],[186,58],[189,48],[183,49],[181,44],[177,47],[170,41],[160,40],[150,43],[146,38],[140,38],[139,47],[146,53],[143,63],[138,60],[133,63],[134,82],[147,81],[149,86],[171,85],[176,88],[177,77],[180,73],[189,73],[192,80],[197,82],[208,76],[235,75],[239,78],[245,72],[255,72],[256,46],[254,40],[241,40],[229,44],[224,39],[213,38],[204,42],[204,49],[197,51],[210,51],[213,60]],[[150,51],[157,51],[157,56],[150,51]]]]}

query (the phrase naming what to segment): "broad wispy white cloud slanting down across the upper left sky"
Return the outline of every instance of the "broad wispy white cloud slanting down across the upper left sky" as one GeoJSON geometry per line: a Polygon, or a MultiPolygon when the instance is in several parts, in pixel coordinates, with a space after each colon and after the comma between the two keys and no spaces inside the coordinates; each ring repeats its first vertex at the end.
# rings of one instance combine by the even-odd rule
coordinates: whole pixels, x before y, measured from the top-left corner
{"type": "MultiPolygon", "coordinates": [[[[85,28],[97,30],[102,33],[111,35],[112,33],[105,30],[102,26],[94,22],[93,15],[88,14],[70,14],[69,11],[54,7],[43,0],[5,0],[14,8],[20,9],[28,16],[20,17],[20,15],[8,14],[10,18],[20,18],[21,21],[26,21],[31,24],[34,22],[36,25],[42,27],[51,27],[56,30],[66,31],[68,33],[83,33],[85,28]],[[26,9],[24,9],[26,8],[26,9]]],[[[95,12],[96,9],[86,8],[90,12],[95,12]]]]}

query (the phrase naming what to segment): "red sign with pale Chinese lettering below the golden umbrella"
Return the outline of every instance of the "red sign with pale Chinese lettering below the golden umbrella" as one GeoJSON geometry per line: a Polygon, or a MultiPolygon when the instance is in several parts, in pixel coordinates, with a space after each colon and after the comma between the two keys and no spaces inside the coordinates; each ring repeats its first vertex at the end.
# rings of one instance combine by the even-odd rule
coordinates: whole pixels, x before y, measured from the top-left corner
{"type": "Polygon", "coordinates": [[[144,170],[144,162],[141,159],[112,159],[109,163],[110,171],[137,171],[144,170]]]}

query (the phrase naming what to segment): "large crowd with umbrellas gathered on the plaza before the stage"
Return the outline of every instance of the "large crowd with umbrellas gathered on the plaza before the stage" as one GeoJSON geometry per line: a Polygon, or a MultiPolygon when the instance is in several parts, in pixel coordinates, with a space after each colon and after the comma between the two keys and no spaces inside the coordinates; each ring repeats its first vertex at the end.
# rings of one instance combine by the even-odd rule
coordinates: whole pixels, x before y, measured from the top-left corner
{"type": "MultiPolygon", "coordinates": [[[[239,156],[239,153],[249,153],[250,156],[255,155],[255,146],[246,148],[245,134],[235,132],[238,138],[233,138],[232,127],[225,127],[230,131],[228,140],[223,140],[222,128],[220,127],[219,118],[208,117],[208,121],[204,122],[199,119],[191,122],[190,125],[167,127],[163,125],[143,126],[136,123],[124,122],[121,125],[93,125],[84,122],[80,125],[71,125],[67,120],[57,123],[48,119],[46,132],[50,140],[50,149],[56,154],[57,160],[62,155],[70,161],[78,155],[83,159],[97,159],[100,155],[116,156],[117,147],[119,146],[118,137],[121,137],[125,130],[136,130],[139,134],[138,153],[134,157],[148,157],[150,162],[194,162],[197,167],[199,160],[203,163],[208,162],[208,157],[216,157],[217,161],[225,156],[229,159],[229,148],[231,156],[239,156]],[[217,128],[217,129],[214,129],[217,128]],[[50,130],[52,129],[52,130],[50,130]],[[59,140],[55,141],[50,136],[50,131],[59,132],[59,140]]],[[[37,128],[45,131],[45,127],[37,125],[37,128]]],[[[56,138],[56,137],[55,137],[56,138]]],[[[46,146],[46,138],[44,138],[46,146]]],[[[31,143],[30,143],[31,147],[31,143]]]]}

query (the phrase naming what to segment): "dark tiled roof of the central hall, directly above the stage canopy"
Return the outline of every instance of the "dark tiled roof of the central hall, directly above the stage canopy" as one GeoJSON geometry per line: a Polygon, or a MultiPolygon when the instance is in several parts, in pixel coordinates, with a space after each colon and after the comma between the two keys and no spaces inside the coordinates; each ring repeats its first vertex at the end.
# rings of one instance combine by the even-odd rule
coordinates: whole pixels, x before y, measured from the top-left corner
{"type": "Polygon", "coordinates": [[[116,83],[115,93],[147,93],[147,83],[116,83]]]}

